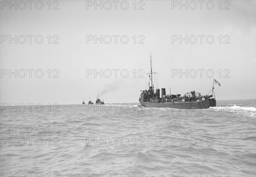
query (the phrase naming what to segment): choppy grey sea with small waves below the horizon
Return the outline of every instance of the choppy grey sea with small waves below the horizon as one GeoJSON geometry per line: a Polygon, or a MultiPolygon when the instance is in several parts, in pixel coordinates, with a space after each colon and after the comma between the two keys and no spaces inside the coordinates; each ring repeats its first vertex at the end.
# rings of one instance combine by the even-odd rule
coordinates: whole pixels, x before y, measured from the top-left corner
{"type": "Polygon", "coordinates": [[[256,100],[2,107],[1,177],[255,177],[256,100]]]}

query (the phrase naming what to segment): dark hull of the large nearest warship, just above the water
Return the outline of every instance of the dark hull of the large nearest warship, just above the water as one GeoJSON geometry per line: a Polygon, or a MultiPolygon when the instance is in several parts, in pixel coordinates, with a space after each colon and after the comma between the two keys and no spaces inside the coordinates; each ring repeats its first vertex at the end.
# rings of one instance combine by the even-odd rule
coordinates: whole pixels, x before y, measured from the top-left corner
{"type": "Polygon", "coordinates": [[[216,106],[215,99],[208,99],[200,102],[159,102],[156,99],[152,102],[140,102],[143,107],[166,107],[173,109],[207,109],[216,106]]]}

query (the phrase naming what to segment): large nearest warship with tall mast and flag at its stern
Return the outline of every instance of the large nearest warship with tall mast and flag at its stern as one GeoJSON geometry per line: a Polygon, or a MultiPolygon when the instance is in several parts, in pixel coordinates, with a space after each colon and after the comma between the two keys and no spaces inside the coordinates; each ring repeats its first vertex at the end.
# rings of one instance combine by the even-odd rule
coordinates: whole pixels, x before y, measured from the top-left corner
{"type": "MultiPolygon", "coordinates": [[[[151,66],[151,72],[146,74],[151,74],[149,78],[151,79],[151,86],[148,83],[148,90],[140,90],[142,91],[139,102],[143,107],[169,107],[169,108],[176,108],[176,109],[206,109],[209,107],[215,107],[216,106],[216,100],[215,100],[215,93],[214,93],[214,87],[212,84],[212,93],[214,93],[214,96],[211,95],[204,95],[202,96],[201,93],[191,91],[190,93],[184,94],[184,96],[180,96],[180,94],[177,95],[171,95],[171,89],[170,89],[170,95],[166,95],[166,89],[162,88],[161,95],[160,95],[160,89],[156,89],[156,92],[154,92],[154,85],[152,81],[152,61],[151,61],[151,54],[150,54],[150,66],[151,66]]],[[[213,83],[217,83],[220,86],[220,83],[213,80],[213,83]]]]}

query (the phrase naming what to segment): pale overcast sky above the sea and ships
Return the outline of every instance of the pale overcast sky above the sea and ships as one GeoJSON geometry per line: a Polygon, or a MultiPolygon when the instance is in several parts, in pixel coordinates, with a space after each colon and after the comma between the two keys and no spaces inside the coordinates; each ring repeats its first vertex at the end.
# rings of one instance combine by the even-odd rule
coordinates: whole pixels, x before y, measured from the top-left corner
{"type": "MultiPolygon", "coordinates": [[[[221,83],[221,87],[215,84],[217,101],[256,98],[254,0],[222,1],[221,7],[219,0],[213,1],[212,10],[209,10],[211,3],[206,6],[207,1],[202,4],[202,10],[200,3],[192,10],[195,4],[189,4],[189,1],[188,10],[185,6],[180,10],[177,4],[180,1],[167,0],[137,1],[136,7],[132,0],[128,1],[127,10],[124,10],[126,4],[123,1],[117,3],[116,10],[112,1],[110,10],[107,10],[109,3],[104,6],[105,1],[102,1],[102,10],[100,6],[95,10],[91,4],[94,1],[52,1],[51,10],[48,0],[43,2],[41,10],[38,10],[41,8],[39,3],[38,9],[35,8],[36,1],[31,10],[29,3],[24,10],[24,4],[17,3],[15,10],[15,6],[9,9],[9,4],[6,5],[9,1],[1,1],[1,103],[81,104],[83,99],[88,102],[89,95],[95,102],[98,90],[105,103],[136,103],[140,90],[148,89],[149,77],[145,73],[150,71],[150,53],[158,87],[165,87],[168,94],[169,87],[172,94],[183,95],[192,90],[208,93],[215,78],[221,83]],[[52,10],[54,7],[58,10],[52,10]],[[15,40],[9,44],[9,37],[15,38],[15,35],[19,38],[17,44],[15,40]],[[21,44],[24,41],[22,35],[26,36],[25,44],[21,44]],[[27,35],[34,35],[32,44],[27,35]],[[35,42],[37,35],[44,38],[42,44],[35,42]],[[95,35],[97,38],[106,36],[105,41],[102,40],[102,44],[100,40],[96,44],[94,40],[87,41],[95,35]],[[107,35],[111,36],[110,44],[106,44],[109,41],[107,35]],[[117,44],[113,35],[119,35],[117,44]],[[120,41],[123,35],[129,39],[127,44],[122,44],[125,38],[120,41]],[[180,35],[190,37],[188,44],[185,40],[172,41],[180,35]],[[198,35],[204,35],[202,44],[198,35]],[[206,41],[208,35],[214,38],[212,44],[208,44],[211,38],[206,41]],[[197,42],[194,42],[194,36],[197,42]],[[59,44],[52,44],[54,42],[59,44]],[[9,73],[4,75],[6,70],[15,72],[15,69],[17,78],[14,74],[11,78],[9,73]],[[29,78],[29,69],[32,69],[32,78],[29,78]],[[188,77],[185,74],[180,77],[180,71],[185,73],[186,69],[188,77]],[[21,78],[23,70],[26,70],[25,78],[21,78]],[[35,70],[44,72],[42,78],[36,77],[35,70]],[[94,73],[87,75],[89,70],[102,70],[107,76],[111,70],[112,76],[102,75],[100,78],[98,74],[95,78],[94,73]],[[121,70],[128,71],[127,78],[124,78],[125,72],[121,76],[121,70]],[[139,78],[144,71],[144,78],[139,78]],[[177,75],[172,75],[177,71],[177,75]],[[212,71],[214,76],[210,77],[212,71]],[[59,78],[53,78],[54,75],[59,78]]],[[[37,39],[40,43],[40,38],[37,39]]],[[[37,74],[40,76],[40,72],[37,74]]],[[[156,83],[154,85],[156,89],[156,83]]]]}

